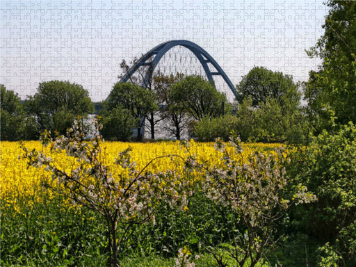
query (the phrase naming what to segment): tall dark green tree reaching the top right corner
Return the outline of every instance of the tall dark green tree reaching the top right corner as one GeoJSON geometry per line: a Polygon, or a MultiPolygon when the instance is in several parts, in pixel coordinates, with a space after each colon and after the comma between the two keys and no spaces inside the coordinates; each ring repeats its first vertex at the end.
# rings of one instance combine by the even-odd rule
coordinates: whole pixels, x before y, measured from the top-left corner
{"type": "Polygon", "coordinates": [[[323,60],[305,90],[313,126],[321,133],[333,122],[356,122],[356,2],[327,1],[324,34],[307,51],[323,60]]]}

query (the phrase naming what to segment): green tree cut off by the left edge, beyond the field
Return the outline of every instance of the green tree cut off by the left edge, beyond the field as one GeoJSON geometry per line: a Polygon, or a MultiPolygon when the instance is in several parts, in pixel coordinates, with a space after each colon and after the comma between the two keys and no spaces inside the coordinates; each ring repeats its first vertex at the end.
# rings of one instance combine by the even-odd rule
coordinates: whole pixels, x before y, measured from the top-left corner
{"type": "Polygon", "coordinates": [[[21,140],[26,129],[21,99],[12,90],[0,85],[1,140],[21,140]]]}

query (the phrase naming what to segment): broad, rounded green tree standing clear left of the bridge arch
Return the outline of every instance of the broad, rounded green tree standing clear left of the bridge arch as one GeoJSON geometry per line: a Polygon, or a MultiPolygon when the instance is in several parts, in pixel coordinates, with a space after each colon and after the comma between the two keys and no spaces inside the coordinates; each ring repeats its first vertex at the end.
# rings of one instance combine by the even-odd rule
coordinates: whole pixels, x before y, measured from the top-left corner
{"type": "Polygon", "coordinates": [[[38,92],[29,97],[26,110],[35,116],[39,129],[64,134],[76,116],[85,117],[94,111],[88,90],[69,81],[40,83],[38,92]]]}

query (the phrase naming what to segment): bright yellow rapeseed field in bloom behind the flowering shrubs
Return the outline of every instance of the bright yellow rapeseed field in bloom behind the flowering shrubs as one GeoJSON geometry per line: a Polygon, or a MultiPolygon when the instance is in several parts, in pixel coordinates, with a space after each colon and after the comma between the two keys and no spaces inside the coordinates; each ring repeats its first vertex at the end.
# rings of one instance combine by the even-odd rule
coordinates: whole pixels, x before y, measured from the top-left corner
{"type": "MultiPolygon", "coordinates": [[[[222,154],[217,152],[213,147],[213,143],[189,143],[189,152],[195,154],[199,161],[204,161],[209,164],[218,164],[222,154]]],[[[28,148],[44,149],[39,141],[24,142],[28,148]]],[[[243,145],[243,153],[250,154],[253,150],[271,151],[274,147],[280,144],[248,144],[243,145]]],[[[121,143],[121,142],[106,142],[103,144],[102,156],[106,159],[106,164],[114,165],[115,158],[118,157],[120,151],[131,147],[130,152],[132,160],[136,162],[138,170],[149,163],[152,159],[158,156],[179,155],[186,158],[187,153],[181,149],[179,141],[168,141],[160,143],[121,143]]],[[[232,149],[232,147],[228,147],[232,149]]],[[[230,150],[231,151],[231,150],[230,150]]],[[[41,196],[38,192],[42,191],[40,181],[42,179],[51,179],[51,173],[46,172],[41,168],[28,167],[24,159],[19,159],[23,151],[19,143],[1,142],[1,202],[2,205],[12,208],[20,212],[20,207],[17,203],[24,201],[30,206],[34,202],[40,202],[41,196]]],[[[52,156],[52,155],[50,155],[52,156]]],[[[56,164],[61,168],[70,168],[70,161],[63,153],[54,157],[56,164]]],[[[152,172],[165,171],[175,169],[181,172],[182,165],[179,165],[179,160],[175,158],[172,161],[171,157],[163,157],[153,161],[148,170],[152,172]]],[[[115,171],[115,170],[114,170],[115,171]]],[[[49,195],[50,197],[50,195],[49,195]]],[[[27,207],[29,208],[29,207],[27,207]]]]}

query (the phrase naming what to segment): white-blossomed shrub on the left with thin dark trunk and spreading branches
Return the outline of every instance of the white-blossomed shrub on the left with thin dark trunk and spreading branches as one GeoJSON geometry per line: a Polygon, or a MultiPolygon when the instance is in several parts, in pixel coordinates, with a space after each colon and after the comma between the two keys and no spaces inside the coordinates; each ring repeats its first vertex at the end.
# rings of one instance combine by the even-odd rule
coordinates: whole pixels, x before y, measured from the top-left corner
{"type": "MultiPolygon", "coordinates": [[[[154,220],[155,204],[161,200],[171,206],[185,207],[188,183],[179,179],[174,170],[158,173],[147,171],[147,166],[154,159],[142,170],[136,170],[135,163],[131,161],[130,149],[118,154],[115,160],[118,172],[114,177],[115,170],[106,165],[102,152],[104,140],[99,134],[101,125],[97,120],[93,124],[95,133],[90,140],[87,140],[80,121],[74,122],[66,137],[58,136],[52,140],[50,133],[45,131],[42,134],[44,149],[29,150],[22,146],[22,158],[29,165],[44,167],[51,172],[57,184],[64,187],[63,194],[74,203],[96,211],[106,220],[110,246],[109,264],[119,266],[118,253],[123,249],[131,227],[154,220]],[[62,167],[54,156],[49,156],[48,145],[51,155],[65,152],[72,158],[71,168],[62,167]],[[118,231],[119,227],[121,231],[118,231]]],[[[53,188],[54,184],[56,183],[47,181],[46,185],[53,188]]]]}

